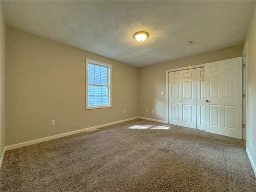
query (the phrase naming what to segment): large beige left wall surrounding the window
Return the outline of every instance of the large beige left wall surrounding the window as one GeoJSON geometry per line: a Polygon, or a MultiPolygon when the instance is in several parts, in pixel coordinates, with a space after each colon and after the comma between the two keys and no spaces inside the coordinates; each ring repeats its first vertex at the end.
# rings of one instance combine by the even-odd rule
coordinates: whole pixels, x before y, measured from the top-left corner
{"type": "Polygon", "coordinates": [[[138,68],[6,27],[7,146],[136,116],[138,68]],[[112,108],[85,110],[85,58],[112,64],[112,108]]]}

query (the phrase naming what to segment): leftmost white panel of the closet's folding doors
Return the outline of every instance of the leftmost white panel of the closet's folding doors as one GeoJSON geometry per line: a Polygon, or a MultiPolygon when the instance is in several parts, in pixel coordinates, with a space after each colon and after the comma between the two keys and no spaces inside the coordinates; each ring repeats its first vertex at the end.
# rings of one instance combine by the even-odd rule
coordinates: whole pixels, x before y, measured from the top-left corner
{"type": "Polygon", "coordinates": [[[170,72],[168,74],[168,89],[169,89],[169,98],[168,98],[168,123],[173,125],[179,125],[180,120],[180,104],[181,104],[181,80],[180,80],[180,71],[170,72]]]}

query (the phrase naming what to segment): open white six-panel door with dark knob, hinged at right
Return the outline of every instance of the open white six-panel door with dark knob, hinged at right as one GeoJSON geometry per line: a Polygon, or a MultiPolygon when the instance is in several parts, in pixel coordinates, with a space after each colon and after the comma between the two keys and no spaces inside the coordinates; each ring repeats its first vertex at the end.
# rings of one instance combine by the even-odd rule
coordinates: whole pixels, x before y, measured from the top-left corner
{"type": "Polygon", "coordinates": [[[207,63],[205,131],[242,139],[242,57],[207,63]]]}

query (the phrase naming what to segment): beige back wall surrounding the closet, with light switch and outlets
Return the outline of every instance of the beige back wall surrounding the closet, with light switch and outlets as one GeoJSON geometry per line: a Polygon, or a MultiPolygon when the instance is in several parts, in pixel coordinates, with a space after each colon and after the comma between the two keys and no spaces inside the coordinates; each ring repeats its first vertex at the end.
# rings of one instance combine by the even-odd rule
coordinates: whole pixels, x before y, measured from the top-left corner
{"type": "Polygon", "coordinates": [[[139,68],[138,115],[166,120],[166,70],[242,56],[242,45],[139,68]],[[163,95],[161,95],[163,91],[163,95]],[[148,112],[146,112],[148,109],[148,112]],[[154,113],[151,110],[154,110],[154,113]]]}

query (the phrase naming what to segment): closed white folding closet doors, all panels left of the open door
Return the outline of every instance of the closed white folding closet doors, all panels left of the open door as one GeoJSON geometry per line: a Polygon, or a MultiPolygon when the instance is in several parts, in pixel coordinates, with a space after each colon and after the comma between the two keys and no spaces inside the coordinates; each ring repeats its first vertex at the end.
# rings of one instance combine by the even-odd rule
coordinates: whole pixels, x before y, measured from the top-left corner
{"type": "Polygon", "coordinates": [[[168,73],[168,123],[204,130],[204,68],[168,73]]]}

